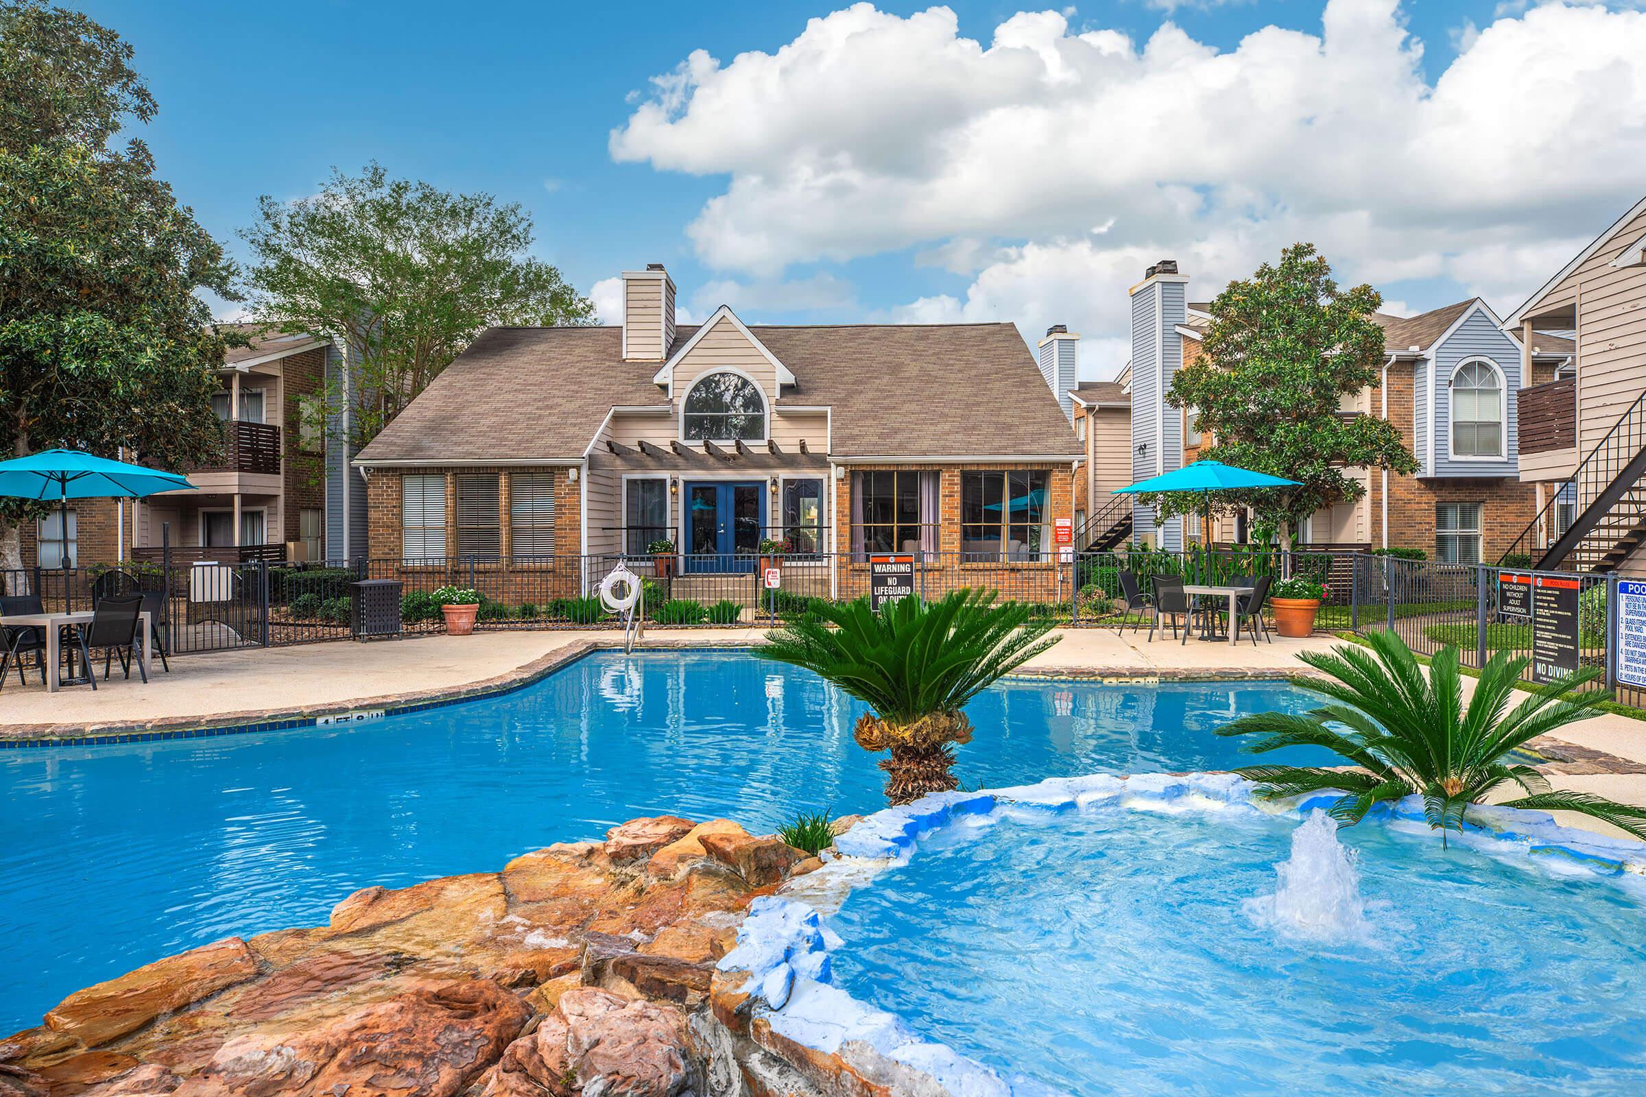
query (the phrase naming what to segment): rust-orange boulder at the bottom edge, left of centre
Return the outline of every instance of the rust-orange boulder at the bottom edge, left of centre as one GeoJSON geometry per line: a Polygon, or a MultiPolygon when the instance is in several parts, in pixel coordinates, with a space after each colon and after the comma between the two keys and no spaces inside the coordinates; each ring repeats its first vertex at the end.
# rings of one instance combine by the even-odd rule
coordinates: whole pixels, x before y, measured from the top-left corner
{"type": "Polygon", "coordinates": [[[253,1030],[212,1056],[178,1097],[451,1097],[520,1035],[530,1010],[484,979],[418,985],[329,1021],[253,1030]]]}

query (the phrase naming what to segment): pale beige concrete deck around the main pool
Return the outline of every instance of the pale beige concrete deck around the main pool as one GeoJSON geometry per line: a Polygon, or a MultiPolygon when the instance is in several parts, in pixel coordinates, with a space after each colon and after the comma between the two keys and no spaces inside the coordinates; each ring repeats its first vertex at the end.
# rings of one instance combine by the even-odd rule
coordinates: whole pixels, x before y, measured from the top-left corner
{"type": "MultiPolygon", "coordinates": [[[[655,628],[647,648],[742,646],[765,628],[655,628]]],[[[1305,673],[1300,651],[1341,643],[1317,633],[1307,640],[1177,643],[1146,640],[1146,632],[1072,628],[1062,641],[1022,669],[1080,678],[1281,678],[1305,673]]],[[[593,648],[621,646],[614,630],[479,632],[472,636],[416,636],[398,641],[328,641],[291,648],[252,648],[179,655],[171,673],[143,686],[135,676],[46,692],[38,678],[0,691],[0,738],[40,740],[122,735],[191,727],[262,724],[352,709],[482,696],[538,678],[593,648]]],[[[1473,678],[1463,678],[1473,691],[1473,678]]],[[[1562,761],[1547,766],[1551,783],[1634,804],[1646,804],[1646,722],[1602,712],[1560,729],[1562,761]],[[1572,750],[1575,748],[1575,750],[1572,750]]],[[[1565,816],[1565,812],[1562,812],[1565,816]]],[[[1569,826],[1613,832],[1582,817],[1569,826]]],[[[1615,834],[1615,832],[1613,832],[1615,834]]]]}

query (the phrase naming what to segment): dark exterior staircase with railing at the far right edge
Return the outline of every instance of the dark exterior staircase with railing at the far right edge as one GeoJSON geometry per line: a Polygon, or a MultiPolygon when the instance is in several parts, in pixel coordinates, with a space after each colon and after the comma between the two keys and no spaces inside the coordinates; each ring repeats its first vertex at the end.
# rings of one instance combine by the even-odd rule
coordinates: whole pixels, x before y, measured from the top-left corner
{"type": "MultiPolygon", "coordinates": [[[[1646,544],[1646,393],[1618,416],[1572,477],[1503,554],[1526,554],[1541,571],[1616,571],[1646,544]],[[1555,530],[1562,495],[1574,500],[1570,528],[1555,530]]],[[[1498,561],[1503,564],[1503,559],[1498,561]]]]}

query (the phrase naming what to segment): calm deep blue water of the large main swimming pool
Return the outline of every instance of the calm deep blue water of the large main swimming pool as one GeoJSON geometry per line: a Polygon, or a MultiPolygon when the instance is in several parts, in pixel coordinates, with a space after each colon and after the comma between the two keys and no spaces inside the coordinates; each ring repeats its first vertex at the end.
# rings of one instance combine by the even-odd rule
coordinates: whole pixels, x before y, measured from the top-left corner
{"type": "MultiPolygon", "coordinates": [[[[1302,711],[1277,683],[1004,683],[968,709],[968,786],[1249,761],[1211,729],[1302,711]]],[[[721,653],[594,655],[542,683],[347,730],[0,752],[0,1033],[79,987],[229,934],[324,924],[367,885],[500,868],[642,814],[884,806],[861,709],[721,653]]],[[[1318,761],[1300,750],[1297,761],[1318,761]]]]}

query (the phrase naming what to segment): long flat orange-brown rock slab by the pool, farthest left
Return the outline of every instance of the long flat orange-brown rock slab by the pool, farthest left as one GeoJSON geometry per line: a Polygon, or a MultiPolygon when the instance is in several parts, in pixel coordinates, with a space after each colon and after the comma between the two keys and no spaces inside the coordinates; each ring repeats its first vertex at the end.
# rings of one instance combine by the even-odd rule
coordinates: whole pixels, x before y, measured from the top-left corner
{"type": "Polygon", "coordinates": [[[257,972],[257,957],[245,941],[227,937],[76,990],[46,1013],[46,1026],[95,1048],[257,972]]]}

